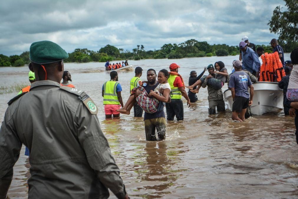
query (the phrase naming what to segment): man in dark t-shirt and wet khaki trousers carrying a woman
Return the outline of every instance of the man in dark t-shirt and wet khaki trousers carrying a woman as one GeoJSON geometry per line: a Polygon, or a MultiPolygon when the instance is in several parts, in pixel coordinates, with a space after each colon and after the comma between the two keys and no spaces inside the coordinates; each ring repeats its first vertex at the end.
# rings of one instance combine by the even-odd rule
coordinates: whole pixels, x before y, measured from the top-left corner
{"type": "MultiPolygon", "coordinates": [[[[147,71],[147,81],[148,84],[144,85],[146,92],[149,93],[150,90],[154,90],[158,86],[158,82],[156,81],[156,72],[154,69],[149,69],[147,71]]],[[[160,91],[162,93],[162,91],[160,91]]],[[[136,96],[140,95],[142,92],[140,90],[136,90],[136,96]]],[[[170,100],[168,101],[168,103],[170,100]]],[[[159,102],[162,103],[162,102],[159,102]]],[[[164,140],[166,136],[166,119],[164,115],[164,104],[160,104],[160,109],[155,113],[147,113],[144,114],[144,124],[145,124],[145,134],[147,141],[157,141],[155,135],[155,129],[157,130],[157,135],[160,140],[164,140]]]]}

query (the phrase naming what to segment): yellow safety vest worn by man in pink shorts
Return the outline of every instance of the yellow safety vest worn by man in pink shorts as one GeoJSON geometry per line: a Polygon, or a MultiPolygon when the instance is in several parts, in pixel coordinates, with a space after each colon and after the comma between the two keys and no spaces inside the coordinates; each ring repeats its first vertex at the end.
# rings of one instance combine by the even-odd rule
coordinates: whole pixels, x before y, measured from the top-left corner
{"type": "Polygon", "coordinates": [[[120,104],[116,92],[117,81],[107,81],[103,84],[103,104],[120,104]]]}

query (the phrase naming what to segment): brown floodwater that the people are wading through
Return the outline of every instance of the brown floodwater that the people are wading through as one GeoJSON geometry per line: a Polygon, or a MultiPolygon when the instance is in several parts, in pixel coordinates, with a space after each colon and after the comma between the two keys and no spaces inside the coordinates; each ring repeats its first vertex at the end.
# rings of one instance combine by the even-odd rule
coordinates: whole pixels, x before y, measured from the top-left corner
{"type": "MultiPolygon", "coordinates": [[[[285,54],[286,58],[289,57],[285,54]]],[[[188,84],[191,70],[224,61],[230,72],[236,56],[129,61],[157,72],[175,62],[188,84]]],[[[119,61],[118,61],[119,62],[119,61]]],[[[113,63],[113,62],[112,62],[113,63]]],[[[121,115],[105,120],[102,85],[109,80],[104,63],[66,63],[72,84],[86,91],[99,109],[101,128],[121,170],[131,198],[298,198],[298,145],[294,119],[283,111],[253,116],[243,123],[232,122],[231,111],[208,115],[207,89],[198,93],[190,108],[184,102],[184,121],[167,122],[164,141],[146,141],[143,118],[121,115]]],[[[27,83],[27,67],[0,68],[0,86],[27,83]]],[[[205,73],[207,74],[207,72],[205,73]]],[[[119,72],[122,97],[129,97],[134,72],[119,72]]],[[[224,85],[225,90],[227,85],[224,85]]],[[[1,94],[0,121],[7,101],[17,92],[1,94]]],[[[165,109],[164,109],[165,110],[165,109]]],[[[30,164],[24,146],[14,166],[10,198],[27,198],[30,164]]],[[[112,193],[110,198],[116,198],[112,193]]]]}

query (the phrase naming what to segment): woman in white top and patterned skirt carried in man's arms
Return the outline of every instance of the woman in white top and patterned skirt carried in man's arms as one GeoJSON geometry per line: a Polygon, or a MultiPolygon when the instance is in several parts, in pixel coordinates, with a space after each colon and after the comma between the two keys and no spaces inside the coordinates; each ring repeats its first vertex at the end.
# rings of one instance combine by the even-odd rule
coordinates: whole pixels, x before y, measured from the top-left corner
{"type": "MultiPolygon", "coordinates": [[[[171,87],[170,84],[167,82],[169,77],[169,72],[166,69],[162,69],[159,71],[157,79],[159,85],[153,90],[146,92],[145,88],[142,86],[134,87],[131,90],[131,96],[128,98],[127,102],[125,103],[124,107],[118,109],[117,111],[122,114],[130,114],[131,108],[137,102],[142,109],[147,113],[155,113],[158,111],[160,102],[169,102],[171,101],[170,98],[170,91],[171,87]],[[159,92],[159,89],[163,89],[163,93],[159,92]],[[136,90],[142,91],[141,95],[136,95],[136,90]]],[[[164,106],[161,104],[161,106],[164,106]]]]}

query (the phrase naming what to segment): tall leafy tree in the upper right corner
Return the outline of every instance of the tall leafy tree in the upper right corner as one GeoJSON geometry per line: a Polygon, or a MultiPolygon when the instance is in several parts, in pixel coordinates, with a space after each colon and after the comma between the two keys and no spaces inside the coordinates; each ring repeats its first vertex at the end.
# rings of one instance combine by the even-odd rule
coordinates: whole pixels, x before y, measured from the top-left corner
{"type": "Polygon", "coordinates": [[[298,2],[297,0],[284,0],[285,11],[283,7],[277,6],[273,10],[271,20],[267,25],[270,26],[270,33],[279,35],[279,42],[298,41],[298,2]]]}

